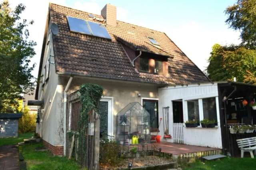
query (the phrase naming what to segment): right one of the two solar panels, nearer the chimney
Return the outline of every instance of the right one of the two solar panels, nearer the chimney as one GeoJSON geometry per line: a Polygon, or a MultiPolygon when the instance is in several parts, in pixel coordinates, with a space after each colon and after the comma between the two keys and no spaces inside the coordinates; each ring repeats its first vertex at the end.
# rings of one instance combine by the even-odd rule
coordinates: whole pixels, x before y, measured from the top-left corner
{"type": "Polygon", "coordinates": [[[90,22],[90,21],[87,21],[87,22],[90,26],[90,29],[92,30],[93,36],[111,39],[110,35],[108,34],[108,30],[104,25],[97,22],[90,22]]]}

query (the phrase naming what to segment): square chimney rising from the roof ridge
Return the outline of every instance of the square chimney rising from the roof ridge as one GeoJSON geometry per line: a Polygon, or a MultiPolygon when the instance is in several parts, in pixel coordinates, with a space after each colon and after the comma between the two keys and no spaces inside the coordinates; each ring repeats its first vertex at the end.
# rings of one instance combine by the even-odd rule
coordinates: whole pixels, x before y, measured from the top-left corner
{"type": "Polygon", "coordinates": [[[116,6],[106,4],[101,10],[101,16],[106,20],[108,25],[116,26],[116,6]]]}

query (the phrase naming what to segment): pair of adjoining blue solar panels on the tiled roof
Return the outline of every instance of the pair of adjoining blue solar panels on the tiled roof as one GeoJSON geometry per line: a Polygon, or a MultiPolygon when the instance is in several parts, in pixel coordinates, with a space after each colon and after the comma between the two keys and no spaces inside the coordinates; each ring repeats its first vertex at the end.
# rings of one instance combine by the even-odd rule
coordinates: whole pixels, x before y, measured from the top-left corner
{"type": "Polygon", "coordinates": [[[97,22],[91,22],[88,20],[74,18],[67,16],[68,25],[71,32],[76,32],[80,34],[86,34],[90,36],[96,36],[100,38],[110,39],[111,37],[108,34],[108,30],[103,24],[97,22]]]}

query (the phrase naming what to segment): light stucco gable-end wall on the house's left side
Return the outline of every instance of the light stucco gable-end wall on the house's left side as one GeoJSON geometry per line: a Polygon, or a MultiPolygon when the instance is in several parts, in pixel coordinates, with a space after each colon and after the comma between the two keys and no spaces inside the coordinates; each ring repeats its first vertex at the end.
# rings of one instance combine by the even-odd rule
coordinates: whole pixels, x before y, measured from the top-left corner
{"type": "Polygon", "coordinates": [[[48,32],[48,38],[45,47],[45,56],[42,65],[41,75],[44,74],[44,66],[50,55],[49,79],[47,82],[41,82],[38,90],[38,99],[44,101],[44,106],[40,114],[39,132],[43,140],[56,145],[63,146],[63,86],[59,84],[59,77],[55,71],[54,53],[52,49],[52,33],[48,32]],[[49,50],[49,52],[48,52],[49,50]],[[50,54],[50,55],[49,55],[50,54]],[[44,86],[43,86],[44,83],[44,86]]]}

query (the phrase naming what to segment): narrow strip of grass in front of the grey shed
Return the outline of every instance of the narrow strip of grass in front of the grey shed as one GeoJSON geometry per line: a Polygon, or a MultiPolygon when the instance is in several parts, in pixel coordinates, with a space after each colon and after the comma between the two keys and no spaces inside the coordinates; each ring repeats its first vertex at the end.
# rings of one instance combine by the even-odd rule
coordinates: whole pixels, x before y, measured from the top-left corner
{"type": "Polygon", "coordinates": [[[18,144],[18,142],[23,142],[24,139],[31,138],[32,136],[34,136],[34,133],[23,133],[19,134],[18,137],[0,138],[0,146],[18,144]]]}

